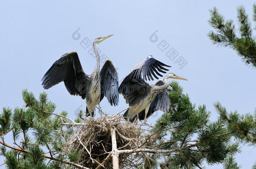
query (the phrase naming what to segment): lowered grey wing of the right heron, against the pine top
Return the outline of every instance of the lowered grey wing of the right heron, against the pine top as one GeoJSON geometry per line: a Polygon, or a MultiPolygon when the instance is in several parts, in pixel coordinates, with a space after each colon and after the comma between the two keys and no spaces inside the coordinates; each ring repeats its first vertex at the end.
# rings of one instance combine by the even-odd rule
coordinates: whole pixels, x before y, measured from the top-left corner
{"type": "MultiPolygon", "coordinates": [[[[156,86],[162,86],[164,85],[162,80],[159,80],[156,84],[156,86]]],[[[172,87],[169,86],[165,91],[158,93],[154,101],[150,104],[149,111],[146,115],[146,118],[148,118],[151,114],[153,114],[155,111],[163,111],[167,112],[170,110],[170,101],[168,98],[168,93],[172,90],[172,87]]],[[[144,120],[145,119],[145,109],[141,111],[138,114],[138,119],[139,120],[144,120]]]]}

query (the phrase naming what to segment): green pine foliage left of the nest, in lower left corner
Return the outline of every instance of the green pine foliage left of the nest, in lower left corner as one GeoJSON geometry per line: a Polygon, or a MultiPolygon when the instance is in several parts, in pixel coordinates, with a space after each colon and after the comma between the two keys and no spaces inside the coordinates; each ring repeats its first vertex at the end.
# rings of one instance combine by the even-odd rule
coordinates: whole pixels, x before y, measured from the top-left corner
{"type": "MultiPolygon", "coordinates": [[[[78,160],[79,156],[75,151],[63,154],[65,142],[71,132],[64,135],[63,132],[67,128],[62,126],[62,123],[71,121],[52,114],[56,105],[49,101],[44,92],[39,95],[39,99],[36,99],[33,93],[24,90],[22,98],[26,107],[16,107],[13,113],[10,108],[3,108],[0,114],[2,133],[0,143],[4,145],[0,147],[0,155],[5,156],[6,167],[8,169],[70,168],[65,161],[71,159],[70,157],[72,160],[78,160]],[[6,149],[4,138],[10,131],[13,136],[13,149],[19,151],[6,149]]],[[[63,111],[61,114],[67,116],[68,113],[63,111]]]]}

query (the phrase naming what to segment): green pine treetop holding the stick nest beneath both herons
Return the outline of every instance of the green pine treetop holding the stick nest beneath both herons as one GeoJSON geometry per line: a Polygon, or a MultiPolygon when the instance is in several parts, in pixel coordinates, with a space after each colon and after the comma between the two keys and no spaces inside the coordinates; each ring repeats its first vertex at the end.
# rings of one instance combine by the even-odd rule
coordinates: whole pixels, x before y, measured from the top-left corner
{"type": "MultiPolygon", "coordinates": [[[[170,85],[173,89],[169,93],[171,109],[163,113],[153,127],[145,130],[147,132],[142,132],[144,129],[139,123],[120,123],[120,119],[111,121],[118,116],[104,117],[105,121],[100,118],[98,121],[88,120],[80,111],[78,119],[73,121],[65,111],[55,113],[56,105],[49,101],[46,93],[41,93],[36,99],[33,93],[24,90],[22,96],[26,107],[16,107],[13,111],[3,108],[0,115],[0,149],[1,155],[5,156],[5,165],[8,169],[88,169],[101,168],[100,165],[115,168],[112,161],[117,160],[116,165],[122,168],[129,165],[140,169],[187,169],[203,168],[206,161],[209,164],[222,163],[224,169],[240,168],[234,155],[240,151],[240,140],[251,140],[251,136],[246,135],[245,139],[234,132],[234,125],[227,126],[222,116],[211,122],[205,105],[196,108],[177,82],[170,85]],[[107,126],[106,121],[111,124],[107,126]],[[80,139],[75,137],[78,131],[83,132],[80,139]],[[88,138],[82,136],[90,132],[94,134],[89,138],[91,144],[95,143],[95,138],[99,139],[94,146],[83,142],[88,138]],[[8,133],[12,133],[13,145],[5,142],[8,133]],[[238,141],[233,142],[233,137],[238,141]],[[97,155],[95,152],[99,151],[103,153],[97,155]],[[127,163],[127,160],[130,161],[127,163]]],[[[238,126],[252,132],[250,126],[243,128],[242,122],[238,126]]]]}

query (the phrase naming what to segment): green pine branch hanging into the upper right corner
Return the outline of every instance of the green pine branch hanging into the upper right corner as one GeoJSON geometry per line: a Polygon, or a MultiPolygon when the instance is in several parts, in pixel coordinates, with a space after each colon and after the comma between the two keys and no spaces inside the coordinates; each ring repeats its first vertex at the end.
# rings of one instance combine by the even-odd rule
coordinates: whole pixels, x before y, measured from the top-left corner
{"type": "MultiPolygon", "coordinates": [[[[225,21],[224,16],[220,15],[217,8],[210,10],[211,18],[209,24],[217,31],[208,33],[209,38],[214,44],[229,46],[236,50],[246,64],[256,67],[256,41],[252,36],[251,23],[248,20],[245,8],[238,7],[239,33],[235,32],[235,25],[232,20],[225,21]]],[[[256,22],[256,3],[253,5],[253,20],[256,22]]],[[[256,30],[256,27],[255,27],[256,30]]]]}

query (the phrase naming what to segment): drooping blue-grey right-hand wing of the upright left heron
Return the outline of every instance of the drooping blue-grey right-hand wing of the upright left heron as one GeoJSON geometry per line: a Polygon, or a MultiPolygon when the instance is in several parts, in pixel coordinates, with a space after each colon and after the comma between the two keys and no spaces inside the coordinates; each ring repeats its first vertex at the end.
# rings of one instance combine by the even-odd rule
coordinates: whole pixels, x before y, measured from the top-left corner
{"type": "Polygon", "coordinates": [[[118,105],[118,73],[112,61],[107,60],[100,71],[101,96],[100,101],[106,96],[108,102],[114,106],[118,105]]]}

